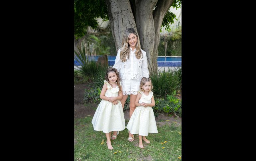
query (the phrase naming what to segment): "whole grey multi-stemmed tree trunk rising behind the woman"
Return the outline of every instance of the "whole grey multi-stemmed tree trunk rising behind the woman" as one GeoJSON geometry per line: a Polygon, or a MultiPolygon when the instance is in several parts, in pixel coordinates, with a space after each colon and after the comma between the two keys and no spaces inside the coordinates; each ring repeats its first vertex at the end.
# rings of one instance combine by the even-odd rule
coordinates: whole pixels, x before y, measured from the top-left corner
{"type": "Polygon", "coordinates": [[[160,28],[173,1],[105,0],[116,51],[122,46],[124,31],[127,28],[134,28],[139,34],[141,48],[147,53],[150,75],[158,72],[157,56],[160,28]],[[154,10],[156,4],[157,7],[154,10]]]}

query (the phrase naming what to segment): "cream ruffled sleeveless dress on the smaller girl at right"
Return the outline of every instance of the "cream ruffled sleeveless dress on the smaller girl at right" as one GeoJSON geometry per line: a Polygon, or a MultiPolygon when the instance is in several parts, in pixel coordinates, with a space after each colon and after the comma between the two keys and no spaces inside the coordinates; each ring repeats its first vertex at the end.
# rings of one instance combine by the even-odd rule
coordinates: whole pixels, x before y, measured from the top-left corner
{"type": "MultiPolygon", "coordinates": [[[[153,92],[150,91],[146,96],[143,92],[139,103],[151,103],[153,92]]],[[[148,136],[148,133],[158,133],[157,124],[152,107],[138,106],[134,110],[126,128],[130,130],[131,134],[139,134],[142,136],[148,136]]]]}

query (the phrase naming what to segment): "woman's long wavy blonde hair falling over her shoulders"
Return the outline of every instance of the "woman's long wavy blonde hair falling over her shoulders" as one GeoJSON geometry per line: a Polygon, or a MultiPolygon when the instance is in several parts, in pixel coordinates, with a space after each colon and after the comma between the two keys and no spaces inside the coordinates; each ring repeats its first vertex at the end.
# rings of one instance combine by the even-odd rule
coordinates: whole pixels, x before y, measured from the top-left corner
{"type": "Polygon", "coordinates": [[[140,46],[140,38],[139,35],[136,33],[136,31],[133,28],[126,29],[123,36],[122,41],[122,47],[120,49],[120,59],[122,62],[125,62],[130,57],[130,45],[128,43],[128,38],[130,34],[134,34],[137,37],[137,43],[136,43],[136,51],[135,56],[137,59],[140,59],[143,57],[143,54],[141,52],[141,46],[140,46]],[[127,59],[126,59],[127,58],[127,59]]]}

